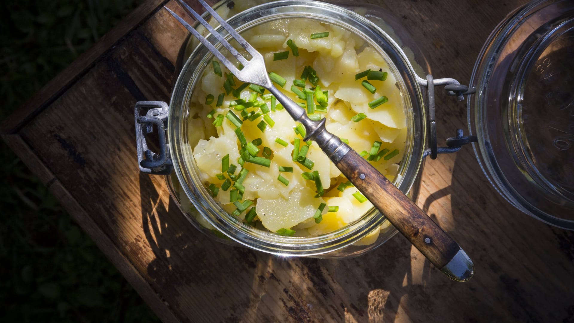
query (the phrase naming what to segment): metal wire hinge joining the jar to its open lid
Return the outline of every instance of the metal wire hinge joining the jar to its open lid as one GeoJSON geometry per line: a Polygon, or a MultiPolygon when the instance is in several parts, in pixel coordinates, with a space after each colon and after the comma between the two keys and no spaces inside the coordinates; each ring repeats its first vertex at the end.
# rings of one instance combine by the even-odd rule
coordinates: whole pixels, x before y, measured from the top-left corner
{"type": "Polygon", "coordinates": [[[429,120],[429,143],[423,154],[424,157],[436,159],[439,153],[453,153],[460,150],[463,145],[476,142],[476,136],[464,136],[463,130],[456,130],[455,137],[446,140],[447,147],[437,147],[436,139],[436,114],[435,114],[435,86],[444,86],[447,95],[456,95],[458,101],[464,100],[465,94],[474,94],[476,89],[460,84],[451,78],[433,79],[432,75],[426,75],[426,79],[418,78],[418,83],[428,89],[428,120],[429,120]]]}

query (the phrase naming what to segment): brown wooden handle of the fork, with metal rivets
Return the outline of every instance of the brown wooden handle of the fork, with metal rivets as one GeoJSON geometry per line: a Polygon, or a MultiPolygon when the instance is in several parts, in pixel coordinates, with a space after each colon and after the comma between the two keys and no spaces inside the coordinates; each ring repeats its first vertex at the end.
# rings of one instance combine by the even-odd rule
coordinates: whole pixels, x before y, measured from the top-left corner
{"type": "Polygon", "coordinates": [[[347,152],[337,168],[435,267],[443,268],[459,252],[440,226],[356,151],[347,152]]]}

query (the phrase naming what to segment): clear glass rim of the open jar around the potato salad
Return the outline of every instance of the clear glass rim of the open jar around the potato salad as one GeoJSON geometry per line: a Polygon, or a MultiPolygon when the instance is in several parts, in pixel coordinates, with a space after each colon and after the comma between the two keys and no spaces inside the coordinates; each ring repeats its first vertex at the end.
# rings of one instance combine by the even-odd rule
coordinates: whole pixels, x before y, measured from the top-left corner
{"type": "MultiPolygon", "coordinates": [[[[416,123],[418,128],[415,125],[411,125],[409,127],[410,133],[408,134],[407,141],[409,141],[409,139],[411,141],[410,147],[412,148],[412,153],[401,163],[400,171],[402,171],[402,174],[405,174],[405,176],[402,176],[401,182],[397,185],[405,193],[409,191],[414,183],[416,174],[422,166],[426,137],[426,114],[423,103],[424,99],[422,98],[421,89],[417,82],[417,75],[410,64],[408,57],[387,33],[383,32],[383,30],[366,18],[354,13],[353,11],[324,2],[284,0],[264,3],[236,14],[234,17],[227,20],[227,22],[241,32],[242,30],[249,29],[255,25],[262,24],[279,17],[313,18],[314,20],[344,25],[350,29],[354,29],[353,32],[363,36],[366,40],[370,39],[370,43],[373,43],[379,52],[385,53],[385,58],[387,62],[389,62],[389,66],[396,70],[394,73],[397,75],[397,79],[399,79],[398,76],[401,76],[403,83],[402,90],[407,94],[407,98],[405,99],[410,100],[410,105],[408,106],[412,107],[413,110],[416,108],[418,113],[418,119],[415,117],[409,118],[409,122],[416,123]],[[299,11],[297,9],[305,10],[299,11]],[[238,25],[242,19],[249,17],[256,18],[248,21],[247,24],[238,25]],[[347,21],[352,21],[353,24],[350,24],[347,21]],[[360,30],[359,28],[363,28],[363,30],[360,30]],[[367,35],[370,35],[370,37],[367,38],[367,35]],[[392,54],[392,56],[389,57],[390,54],[392,54]],[[393,66],[391,66],[391,63],[393,66]],[[410,119],[413,119],[413,121],[410,119]],[[417,139],[417,143],[414,143],[415,139],[417,139]]],[[[217,30],[220,31],[222,28],[219,27],[217,30]]],[[[224,36],[226,36],[226,33],[224,33],[224,36]]],[[[212,41],[212,43],[215,42],[214,37],[212,36],[208,37],[208,40],[212,41]]],[[[232,240],[238,241],[243,245],[248,245],[249,247],[260,251],[271,252],[278,255],[311,256],[346,247],[347,245],[367,236],[373,232],[373,230],[378,229],[384,221],[387,221],[385,217],[377,212],[377,210],[371,209],[370,212],[363,215],[359,220],[347,224],[343,228],[331,233],[309,237],[286,237],[251,228],[251,226],[245,225],[238,219],[231,216],[220,216],[220,214],[226,215],[228,213],[225,212],[219,203],[214,201],[214,199],[202,198],[202,196],[207,193],[206,189],[204,187],[196,187],[189,184],[189,182],[193,182],[193,180],[189,179],[192,179],[196,174],[189,172],[191,168],[189,166],[191,165],[188,165],[188,163],[190,161],[185,159],[185,154],[183,152],[186,148],[182,147],[182,144],[185,142],[185,136],[183,136],[183,133],[187,131],[185,130],[185,123],[183,122],[184,107],[187,106],[186,103],[188,102],[189,97],[191,97],[191,91],[195,87],[194,81],[197,82],[197,79],[199,79],[196,74],[200,74],[196,70],[191,70],[190,66],[193,66],[194,63],[197,63],[197,66],[199,67],[205,66],[205,61],[208,59],[204,56],[210,55],[202,56],[200,54],[205,54],[206,52],[207,49],[205,49],[203,45],[197,47],[186,61],[183,70],[180,72],[170,101],[168,131],[170,153],[172,155],[177,178],[182,183],[181,186],[185,191],[185,194],[188,195],[193,205],[196,206],[197,210],[200,211],[201,215],[204,216],[211,225],[226,236],[230,237],[232,240]],[[203,62],[203,64],[201,62],[203,62]],[[178,102],[181,104],[178,104],[178,102]],[[210,214],[205,215],[201,210],[216,210],[217,212],[210,212],[210,214]]],[[[203,71],[203,67],[199,68],[199,70],[203,71]]],[[[409,113],[409,111],[407,112],[409,113]]],[[[413,114],[412,111],[410,111],[410,113],[413,114]]],[[[409,143],[406,144],[409,145],[409,143]]],[[[191,159],[193,159],[193,157],[191,157],[191,159]]],[[[192,160],[191,164],[194,163],[195,161],[192,160]]],[[[393,230],[395,232],[391,234],[391,236],[396,233],[394,228],[393,230]]]]}

